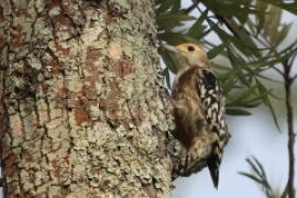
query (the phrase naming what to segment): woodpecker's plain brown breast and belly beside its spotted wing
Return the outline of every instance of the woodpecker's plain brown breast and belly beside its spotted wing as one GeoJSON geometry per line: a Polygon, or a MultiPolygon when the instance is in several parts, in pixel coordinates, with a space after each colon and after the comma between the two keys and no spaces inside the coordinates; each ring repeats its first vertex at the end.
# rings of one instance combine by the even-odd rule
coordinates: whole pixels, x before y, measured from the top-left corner
{"type": "Polygon", "coordinates": [[[206,125],[200,98],[196,91],[197,69],[191,67],[178,75],[172,94],[176,135],[188,148],[206,125]]]}

